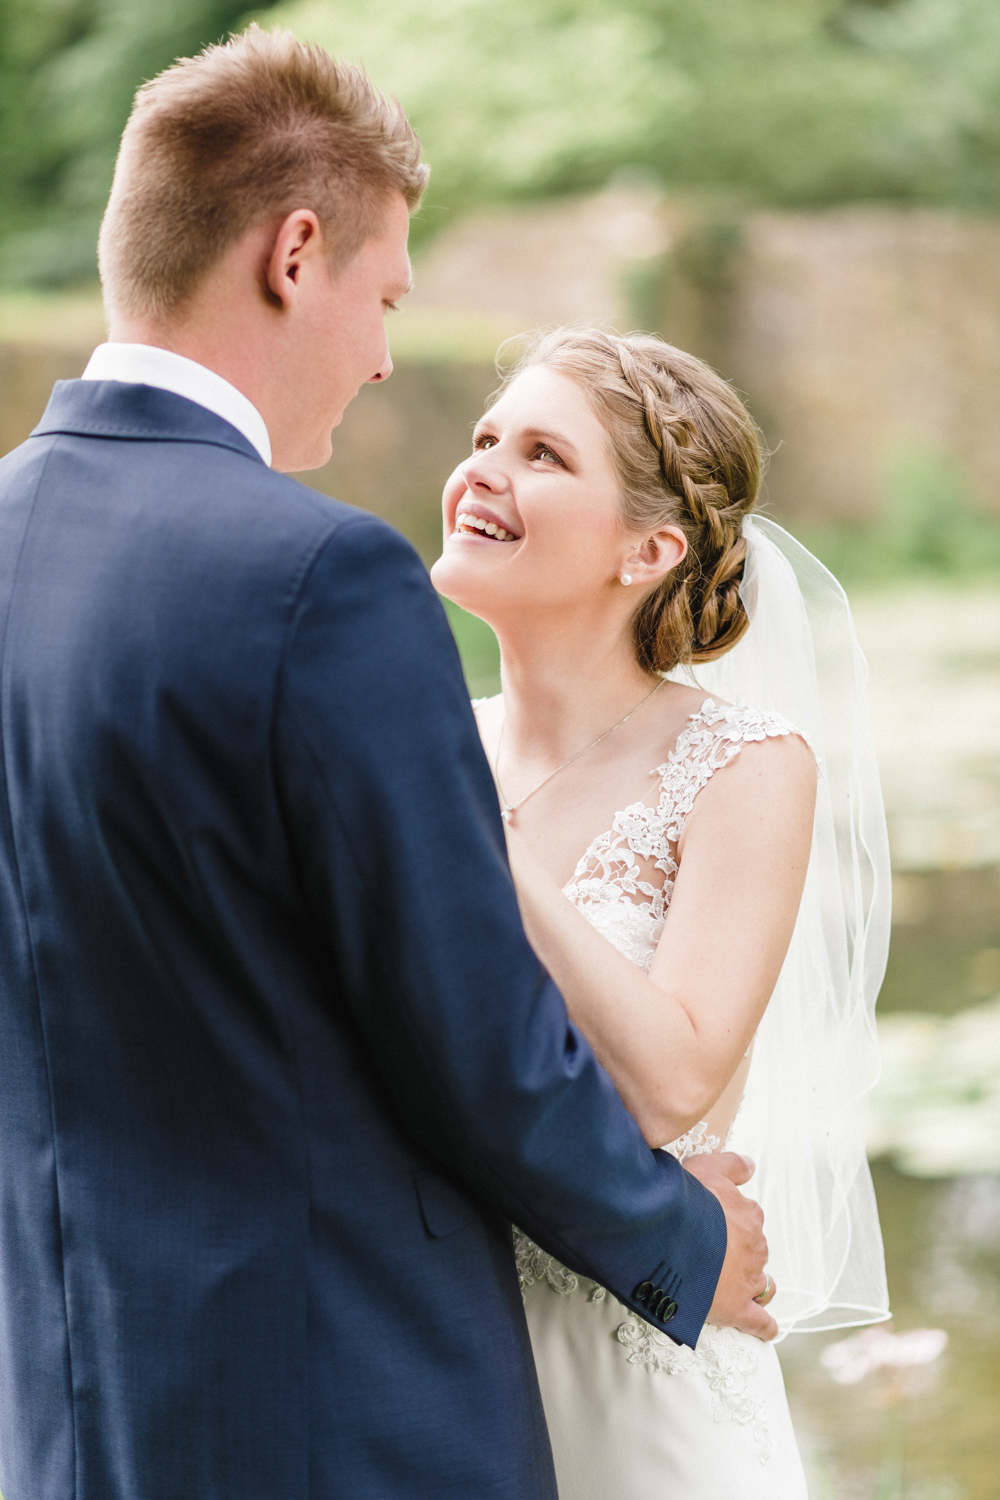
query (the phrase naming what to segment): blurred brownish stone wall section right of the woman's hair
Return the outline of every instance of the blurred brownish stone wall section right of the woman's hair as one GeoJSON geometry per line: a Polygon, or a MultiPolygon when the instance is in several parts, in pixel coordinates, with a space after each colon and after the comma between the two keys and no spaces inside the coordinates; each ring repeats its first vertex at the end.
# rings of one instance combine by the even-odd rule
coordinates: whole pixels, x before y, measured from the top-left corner
{"type": "Polygon", "coordinates": [[[907,446],[952,454],[1000,512],[1000,224],[850,210],[726,228],[681,243],[663,332],[748,393],[778,514],[870,516],[907,446]]]}

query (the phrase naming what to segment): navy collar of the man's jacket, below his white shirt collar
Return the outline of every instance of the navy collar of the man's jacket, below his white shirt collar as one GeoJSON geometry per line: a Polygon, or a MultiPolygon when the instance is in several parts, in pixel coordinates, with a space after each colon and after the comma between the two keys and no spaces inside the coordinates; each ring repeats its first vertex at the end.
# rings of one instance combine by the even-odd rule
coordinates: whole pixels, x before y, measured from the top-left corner
{"type": "Polygon", "coordinates": [[[147,442],[208,442],[264,464],[249,438],[214,411],[156,386],[114,380],[60,380],[33,438],[132,438],[147,442]]]}

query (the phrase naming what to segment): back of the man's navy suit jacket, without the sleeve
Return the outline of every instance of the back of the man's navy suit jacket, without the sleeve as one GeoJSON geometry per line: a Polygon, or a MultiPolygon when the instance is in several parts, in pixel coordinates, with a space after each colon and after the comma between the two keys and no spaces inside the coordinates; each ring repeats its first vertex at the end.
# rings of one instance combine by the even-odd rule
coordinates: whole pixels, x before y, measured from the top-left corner
{"type": "Polygon", "coordinates": [[[117,390],[208,438],[0,464],[6,1500],[534,1494],[508,1252],[444,1180],[444,1238],[421,1220],[276,774],[303,579],[345,528],[400,543],[117,390]],[[475,1438],[483,1350],[435,1383],[459,1282],[520,1473],[475,1438]]]}

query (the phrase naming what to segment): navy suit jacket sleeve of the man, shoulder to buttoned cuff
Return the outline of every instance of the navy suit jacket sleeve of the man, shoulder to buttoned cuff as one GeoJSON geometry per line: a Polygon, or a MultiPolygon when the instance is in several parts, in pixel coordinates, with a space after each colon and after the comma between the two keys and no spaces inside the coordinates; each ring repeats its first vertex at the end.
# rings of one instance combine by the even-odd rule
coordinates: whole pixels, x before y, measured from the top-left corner
{"type": "Polygon", "coordinates": [[[693,1346],[718,1202],[651,1150],[523,934],[447,620],[357,516],[292,614],[274,760],[310,921],[402,1126],[571,1269],[693,1346]]]}

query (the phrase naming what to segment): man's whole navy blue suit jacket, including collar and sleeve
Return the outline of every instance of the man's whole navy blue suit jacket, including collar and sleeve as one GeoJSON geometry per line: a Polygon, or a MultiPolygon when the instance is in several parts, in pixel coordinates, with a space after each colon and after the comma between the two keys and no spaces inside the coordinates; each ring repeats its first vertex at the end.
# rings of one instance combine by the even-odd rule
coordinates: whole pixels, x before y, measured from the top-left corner
{"type": "Polygon", "coordinates": [[[415,554],[64,382],[0,674],[6,1500],[552,1500],[510,1221],[688,1344],[726,1230],[525,940],[415,554]]]}

